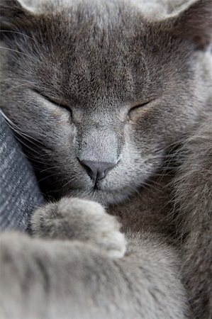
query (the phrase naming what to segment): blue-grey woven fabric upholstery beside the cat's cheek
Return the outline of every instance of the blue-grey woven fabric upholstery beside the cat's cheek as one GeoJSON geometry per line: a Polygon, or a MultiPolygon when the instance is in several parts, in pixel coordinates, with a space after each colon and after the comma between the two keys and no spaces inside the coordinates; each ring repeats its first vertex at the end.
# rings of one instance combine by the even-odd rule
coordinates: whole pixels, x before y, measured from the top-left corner
{"type": "Polygon", "coordinates": [[[33,169],[0,113],[0,230],[26,230],[43,203],[33,169]]]}

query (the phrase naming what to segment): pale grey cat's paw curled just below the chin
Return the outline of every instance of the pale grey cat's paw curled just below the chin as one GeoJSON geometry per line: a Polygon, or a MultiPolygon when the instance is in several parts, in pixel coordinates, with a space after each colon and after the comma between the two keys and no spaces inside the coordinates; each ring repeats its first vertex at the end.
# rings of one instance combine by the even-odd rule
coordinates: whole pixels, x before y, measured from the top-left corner
{"type": "Polygon", "coordinates": [[[125,237],[118,220],[94,201],[62,198],[48,203],[35,211],[31,225],[35,237],[89,242],[110,257],[125,254],[125,237]]]}

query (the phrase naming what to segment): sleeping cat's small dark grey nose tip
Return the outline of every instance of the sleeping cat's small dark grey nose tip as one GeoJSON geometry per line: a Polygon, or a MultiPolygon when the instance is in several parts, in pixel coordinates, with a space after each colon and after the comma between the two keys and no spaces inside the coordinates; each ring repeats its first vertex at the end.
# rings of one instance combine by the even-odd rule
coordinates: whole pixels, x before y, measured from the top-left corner
{"type": "Polygon", "coordinates": [[[84,165],[84,167],[86,167],[91,179],[94,179],[95,181],[99,179],[104,179],[109,169],[116,166],[116,163],[108,162],[95,162],[88,160],[82,160],[80,162],[82,165],[84,165]]]}

